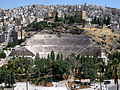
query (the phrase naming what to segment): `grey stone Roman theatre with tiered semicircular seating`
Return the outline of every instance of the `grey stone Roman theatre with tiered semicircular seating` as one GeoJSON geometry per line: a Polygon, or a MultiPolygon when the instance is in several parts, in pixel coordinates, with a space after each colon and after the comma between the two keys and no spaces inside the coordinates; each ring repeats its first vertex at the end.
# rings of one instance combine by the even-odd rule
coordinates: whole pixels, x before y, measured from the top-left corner
{"type": "MultiPolygon", "coordinates": [[[[39,53],[40,57],[47,57],[52,50],[55,54],[62,53],[64,57],[71,54],[100,56],[101,53],[100,47],[93,45],[90,36],[72,34],[36,34],[26,40],[24,48],[34,55],[39,53]]],[[[22,51],[21,47],[15,50],[22,51]]]]}

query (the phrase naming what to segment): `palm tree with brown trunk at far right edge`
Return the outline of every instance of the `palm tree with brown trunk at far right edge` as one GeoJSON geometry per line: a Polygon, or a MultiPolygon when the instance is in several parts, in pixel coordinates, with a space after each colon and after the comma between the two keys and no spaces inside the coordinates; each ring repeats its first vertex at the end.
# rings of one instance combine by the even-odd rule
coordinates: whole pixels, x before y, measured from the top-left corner
{"type": "Polygon", "coordinates": [[[120,52],[113,53],[110,64],[113,71],[114,83],[117,85],[117,90],[119,90],[118,67],[120,65],[120,52]]]}

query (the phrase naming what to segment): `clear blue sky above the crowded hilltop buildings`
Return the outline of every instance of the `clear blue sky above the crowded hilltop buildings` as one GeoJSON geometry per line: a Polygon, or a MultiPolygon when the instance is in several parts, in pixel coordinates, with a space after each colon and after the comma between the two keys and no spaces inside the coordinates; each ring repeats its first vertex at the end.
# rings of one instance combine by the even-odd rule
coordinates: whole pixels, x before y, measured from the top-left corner
{"type": "Polygon", "coordinates": [[[40,4],[40,5],[80,5],[89,3],[98,6],[108,6],[120,9],[120,0],[0,0],[0,8],[10,9],[19,6],[40,4]]]}

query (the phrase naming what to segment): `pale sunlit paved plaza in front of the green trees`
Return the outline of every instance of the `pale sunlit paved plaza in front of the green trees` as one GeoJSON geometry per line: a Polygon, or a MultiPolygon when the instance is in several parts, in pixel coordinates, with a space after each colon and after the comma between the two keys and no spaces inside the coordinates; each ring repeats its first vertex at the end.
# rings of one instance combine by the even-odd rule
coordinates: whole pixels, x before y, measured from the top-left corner
{"type": "MultiPolygon", "coordinates": [[[[114,81],[113,80],[109,80],[109,81],[111,81],[111,83],[108,84],[107,86],[105,86],[102,83],[102,90],[115,90],[116,89],[116,86],[114,85],[114,81]],[[106,89],[106,87],[108,89],[106,89]]],[[[120,80],[119,80],[119,82],[120,82],[120,80]]],[[[53,82],[53,87],[35,86],[35,85],[28,83],[28,90],[69,90],[66,87],[66,83],[67,83],[67,81],[53,82]]],[[[120,86],[120,84],[119,84],[119,86],[120,86]]],[[[99,88],[100,88],[100,84],[95,83],[95,85],[91,86],[91,88],[80,89],[80,90],[98,90],[99,88]],[[96,88],[96,86],[97,86],[97,88],[96,88]]],[[[5,89],[5,90],[12,90],[12,89],[5,89]]],[[[17,82],[14,90],[26,90],[26,82],[17,82]]]]}

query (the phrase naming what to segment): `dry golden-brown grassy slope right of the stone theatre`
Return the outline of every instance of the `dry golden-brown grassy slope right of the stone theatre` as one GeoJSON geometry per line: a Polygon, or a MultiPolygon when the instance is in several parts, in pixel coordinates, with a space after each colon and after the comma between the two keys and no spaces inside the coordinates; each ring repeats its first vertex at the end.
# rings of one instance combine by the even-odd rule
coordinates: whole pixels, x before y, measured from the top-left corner
{"type": "Polygon", "coordinates": [[[85,35],[90,35],[95,44],[104,49],[115,49],[119,46],[120,35],[108,28],[82,28],[85,35]]]}

